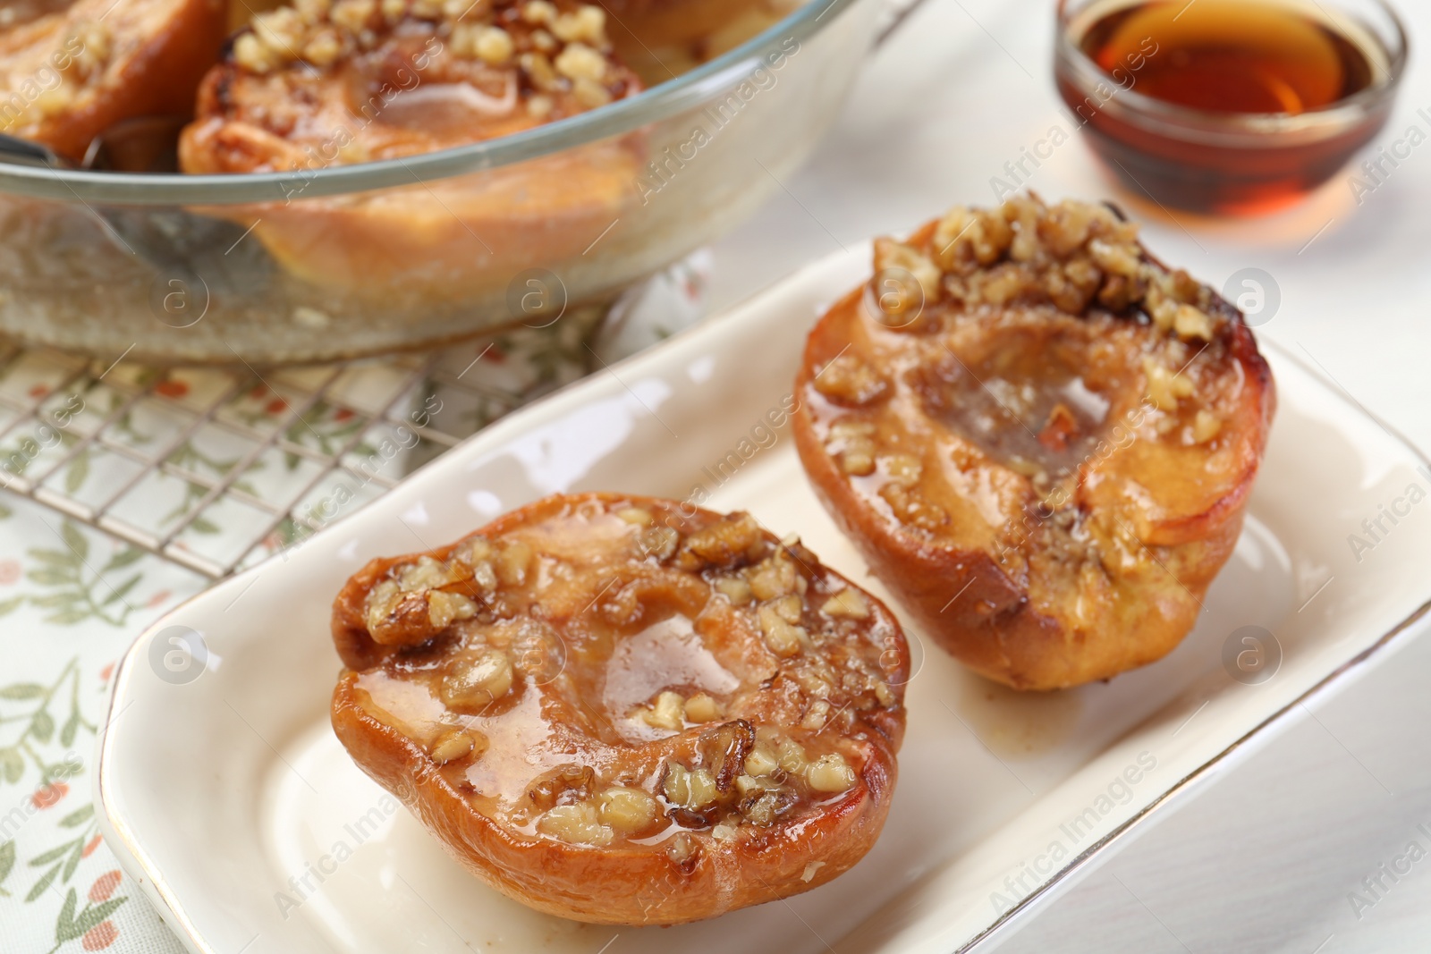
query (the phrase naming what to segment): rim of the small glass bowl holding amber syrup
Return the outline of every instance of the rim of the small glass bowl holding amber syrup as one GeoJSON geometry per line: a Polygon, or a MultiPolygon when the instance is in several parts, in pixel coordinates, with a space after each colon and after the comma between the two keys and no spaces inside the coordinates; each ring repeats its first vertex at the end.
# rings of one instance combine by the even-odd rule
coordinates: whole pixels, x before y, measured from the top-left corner
{"type": "MultiPolygon", "coordinates": [[[[1086,89],[1086,80],[1090,79],[1095,82],[1109,82],[1112,77],[1069,36],[1069,7],[1072,3],[1073,0],[1059,0],[1058,3],[1055,14],[1058,33],[1055,37],[1055,60],[1066,62],[1072,67],[1073,76],[1069,79],[1079,89],[1086,89]]],[[[1112,104],[1120,112],[1138,114],[1143,123],[1152,122],[1163,132],[1173,134],[1178,132],[1215,133],[1258,146],[1282,146],[1285,143],[1272,142],[1272,137],[1285,136],[1286,133],[1311,132],[1315,134],[1318,130],[1341,132],[1348,123],[1395,97],[1411,59],[1411,43],[1401,14],[1397,13],[1388,0],[1369,0],[1369,3],[1387,16],[1392,27],[1394,46],[1387,47],[1387,79],[1372,83],[1367,89],[1337,100],[1329,106],[1296,114],[1215,113],[1212,110],[1169,103],[1133,89],[1119,87],[1116,96],[1109,103],[1100,104],[1099,109],[1106,109],[1112,104]]],[[[1062,72],[1056,69],[1055,73],[1058,79],[1058,74],[1062,72]]]]}

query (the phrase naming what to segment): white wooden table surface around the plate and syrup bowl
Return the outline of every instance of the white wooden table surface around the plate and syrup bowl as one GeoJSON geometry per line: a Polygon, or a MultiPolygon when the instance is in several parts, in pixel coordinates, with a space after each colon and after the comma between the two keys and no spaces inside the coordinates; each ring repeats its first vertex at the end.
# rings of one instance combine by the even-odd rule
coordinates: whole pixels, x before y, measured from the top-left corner
{"type": "MultiPolygon", "coordinates": [[[[1431,3],[1398,4],[1415,57],[1431,3]]],[[[716,308],[841,243],[909,230],[954,203],[993,203],[990,177],[1060,122],[1053,6],[929,0],[869,64],[821,154],[717,246],[716,308]]],[[[1431,134],[1417,114],[1427,107],[1431,70],[1412,62],[1382,142],[1412,124],[1431,134]]],[[[1338,177],[1258,220],[1171,220],[1120,192],[1078,139],[1029,186],[1116,197],[1148,223],[1156,252],[1209,285],[1264,269],[1282,302],[1258,333],[1309,355],[1431,448],[1431,143],[1359,206],[1338,177]]],[[[1421,638],[1037,910],[1002,954],[1431,950],[1428,687],[1421,638]],[[1427,852],[1418,861],[1412,841],[1427,852]],[[1392,881],[1381,865],[1410,871],[1392,881]]]]}

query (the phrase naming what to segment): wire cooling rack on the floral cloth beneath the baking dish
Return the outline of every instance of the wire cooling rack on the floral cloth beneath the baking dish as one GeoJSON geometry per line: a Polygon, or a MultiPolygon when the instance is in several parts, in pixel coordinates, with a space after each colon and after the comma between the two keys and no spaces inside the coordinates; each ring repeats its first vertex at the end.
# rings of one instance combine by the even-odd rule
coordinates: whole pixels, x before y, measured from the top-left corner
{"type": "Polygon", "coordinates": [[[0,485],[219,579],[588,372],[574,329],[262,373],[0,343],[0,485]]]}

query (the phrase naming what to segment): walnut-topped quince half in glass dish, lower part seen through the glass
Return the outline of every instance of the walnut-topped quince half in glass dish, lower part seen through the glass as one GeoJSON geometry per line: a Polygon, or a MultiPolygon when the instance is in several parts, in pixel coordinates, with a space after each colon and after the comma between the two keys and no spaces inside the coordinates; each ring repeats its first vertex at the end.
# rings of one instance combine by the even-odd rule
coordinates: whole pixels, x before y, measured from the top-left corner
{"type": "Polygon", "coordinates": [[[511,136],[640,90],[598,6],[296,0],[232,40],[179,160],[189,173],[293,173],[275,203],[212,210],[258,222],[289,272],[458,300],[588,247],[635,199],[641,139],[341,197],[305,196],[312,176],[511,136]]]}

